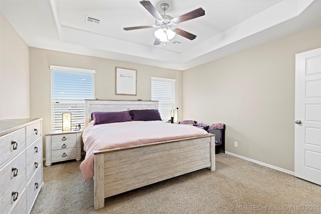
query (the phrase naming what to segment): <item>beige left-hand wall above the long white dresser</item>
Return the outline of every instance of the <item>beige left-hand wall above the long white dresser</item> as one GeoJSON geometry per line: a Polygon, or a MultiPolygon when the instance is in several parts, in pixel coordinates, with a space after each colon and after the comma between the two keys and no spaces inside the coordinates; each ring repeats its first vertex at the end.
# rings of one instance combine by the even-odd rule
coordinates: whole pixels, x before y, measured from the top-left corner
{"type": "Polygon", "coordinates": [[[0,13],[0,120],[29,118],[29,47],[0,13]]]}

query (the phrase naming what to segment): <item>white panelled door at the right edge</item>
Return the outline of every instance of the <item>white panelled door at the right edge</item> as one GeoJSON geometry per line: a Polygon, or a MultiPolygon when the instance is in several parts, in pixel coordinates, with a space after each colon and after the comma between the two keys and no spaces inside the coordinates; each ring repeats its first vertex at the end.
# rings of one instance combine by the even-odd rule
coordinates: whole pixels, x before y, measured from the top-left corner
{"type": "Polygon", "coordinates": [[[295,55],[294,141],[294,175],[321,185],[321,48],[295,55]]]}

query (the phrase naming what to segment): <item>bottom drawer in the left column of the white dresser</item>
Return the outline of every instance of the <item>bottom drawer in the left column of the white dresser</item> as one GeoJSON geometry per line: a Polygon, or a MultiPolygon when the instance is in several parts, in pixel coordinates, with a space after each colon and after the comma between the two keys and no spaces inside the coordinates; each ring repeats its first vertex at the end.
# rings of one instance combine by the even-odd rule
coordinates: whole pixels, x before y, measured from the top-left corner
{"type": "Polygon", "coordinates": [[[23,196],[23,191],[26,188],[26,168],[21,172],[16,182],[1,196],[1,213],[9,213],[14,205],[19,204],[20,196],[23,196]]]}

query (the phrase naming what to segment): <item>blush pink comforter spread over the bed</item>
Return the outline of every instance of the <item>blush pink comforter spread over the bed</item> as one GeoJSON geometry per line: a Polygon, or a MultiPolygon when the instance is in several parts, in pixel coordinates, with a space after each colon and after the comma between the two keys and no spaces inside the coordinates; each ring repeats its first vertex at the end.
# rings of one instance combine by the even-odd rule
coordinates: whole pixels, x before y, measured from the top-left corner
{"type": "Polygon", "coordinates": [[[164,121],[130,121],[85,126],[85,159],[80,164],[84,181],[94,176],[94,151],[143,143],[208,135],[203,129],[164,121]]]}

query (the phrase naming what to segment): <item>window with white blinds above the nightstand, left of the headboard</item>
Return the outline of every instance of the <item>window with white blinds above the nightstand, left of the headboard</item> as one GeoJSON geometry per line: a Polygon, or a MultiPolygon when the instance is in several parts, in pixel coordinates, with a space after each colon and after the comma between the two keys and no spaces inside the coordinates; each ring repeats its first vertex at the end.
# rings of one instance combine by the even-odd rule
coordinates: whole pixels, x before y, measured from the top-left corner
{"type": "Polygon", "coordinates": [[[95,99],[95,71],[50,66],[51,130],[62,130],[62,113],[71,113],[71,127],[85,125],[85,99],[95,99]]]}

